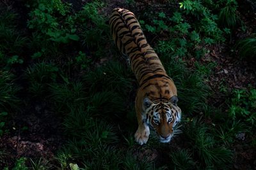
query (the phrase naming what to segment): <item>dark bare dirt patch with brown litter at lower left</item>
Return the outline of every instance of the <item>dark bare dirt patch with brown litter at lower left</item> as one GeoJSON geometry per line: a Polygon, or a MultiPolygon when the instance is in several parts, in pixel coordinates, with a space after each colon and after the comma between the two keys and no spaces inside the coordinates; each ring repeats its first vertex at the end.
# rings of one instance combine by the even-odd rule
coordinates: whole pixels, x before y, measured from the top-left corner
{"type": "Polygon", "coordinates": [[[15,158],[53,160],[63,141],[61,118],[43,106],[35,104],[17,114],[12,129],[0,139],[0,148],[6,156],[0,166],[12,166],[15,158]]]}

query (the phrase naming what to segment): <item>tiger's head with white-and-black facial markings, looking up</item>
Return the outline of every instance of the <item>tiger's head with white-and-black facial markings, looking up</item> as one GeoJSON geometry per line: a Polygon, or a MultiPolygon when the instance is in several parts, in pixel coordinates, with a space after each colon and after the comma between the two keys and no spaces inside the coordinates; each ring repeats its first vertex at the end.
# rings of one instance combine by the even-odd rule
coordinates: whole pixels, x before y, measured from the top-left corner
{"type": "Polygon", "coordinates": [[[170,100],[143,100],[145,118],[144,121],[154,129],[159,140],[167,143],[174,134],[173,127],[180,122],[181,110],[177,106],[178,97],[173,96],[170,100]]]}

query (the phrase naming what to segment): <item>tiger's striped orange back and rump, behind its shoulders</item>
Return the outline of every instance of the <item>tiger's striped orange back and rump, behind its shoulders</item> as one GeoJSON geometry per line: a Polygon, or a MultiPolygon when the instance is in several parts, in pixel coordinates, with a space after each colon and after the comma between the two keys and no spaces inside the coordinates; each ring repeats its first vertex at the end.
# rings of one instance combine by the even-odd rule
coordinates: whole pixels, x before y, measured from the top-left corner
{"type": "Polygon", "coordinates": [[[111,34],[116,46],[127,55],[140,86],[150,76],[169,78],[156,52],[148,45],[140,24],[129,10],[115,8],[110,17],[111,34]]]}

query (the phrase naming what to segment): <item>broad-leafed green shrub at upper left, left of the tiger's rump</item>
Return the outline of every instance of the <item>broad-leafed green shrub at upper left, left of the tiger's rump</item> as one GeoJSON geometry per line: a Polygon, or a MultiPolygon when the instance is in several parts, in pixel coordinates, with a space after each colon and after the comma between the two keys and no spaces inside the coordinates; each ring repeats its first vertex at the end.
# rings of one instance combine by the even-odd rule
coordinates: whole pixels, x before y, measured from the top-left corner
{"type": "Polygon", "coordinates": [[[28,6],[31,8],[28,28],[33,32],[30,46],[34,53],[33,58],[43,54],[56,54],[61,44],[79,40],[77,29],[72,25],[74,22],[70,20],[72,17],[69,15],[70,6],[67,3],[61,0],[40,0],[33,1],[28,6]],[[36,56],[35,53],[41,54],[36,56]]]}

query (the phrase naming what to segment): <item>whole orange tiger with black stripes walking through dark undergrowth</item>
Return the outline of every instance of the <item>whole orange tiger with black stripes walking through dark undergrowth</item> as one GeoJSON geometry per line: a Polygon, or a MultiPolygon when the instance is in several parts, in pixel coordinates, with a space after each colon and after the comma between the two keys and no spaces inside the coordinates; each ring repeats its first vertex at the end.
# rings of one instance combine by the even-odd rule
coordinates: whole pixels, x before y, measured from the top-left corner
{"type": "Polygon", "coordinates": [[[109,27],[118,50],[128,57],[139,85],[135,99],[138,120],[135,141],[140,145],[147,143],[150,129],[153,129],[161,143],[170,142],[173,127],[181,118],[177,88],[172,78],[148,44],[134,13],[122,8],[113,9],[109,27]]]}

